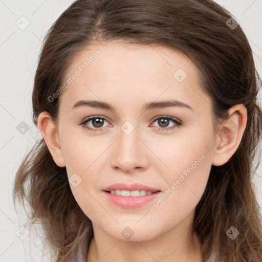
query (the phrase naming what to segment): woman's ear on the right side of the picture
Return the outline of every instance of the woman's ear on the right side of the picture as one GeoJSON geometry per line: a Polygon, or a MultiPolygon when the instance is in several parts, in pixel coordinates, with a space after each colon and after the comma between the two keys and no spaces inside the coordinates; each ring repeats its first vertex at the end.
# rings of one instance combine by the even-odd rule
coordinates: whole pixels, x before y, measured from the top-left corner
{"type": "Polygon", "coordinates": [[[221,166],[228,162],[238,148],[247,125],[247,108],[237,104],[228,110],[228,118],[220,125],[216,134],[216,146],[212,165],[221,166]]]}

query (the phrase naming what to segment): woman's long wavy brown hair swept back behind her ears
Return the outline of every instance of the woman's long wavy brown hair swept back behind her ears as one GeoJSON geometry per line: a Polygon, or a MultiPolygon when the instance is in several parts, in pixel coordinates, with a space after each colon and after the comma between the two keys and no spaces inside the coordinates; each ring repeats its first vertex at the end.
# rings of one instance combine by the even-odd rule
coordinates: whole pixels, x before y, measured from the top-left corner
{"type": "MultiPolygon", "coordinates": [[[[262,131],[256,98],[261,80],[247,37],[232,14],[211,0],[78,0],[48,31],[39,56],[33,89],[33,121],[46,111],[57,120],[59,97],[73,57],[95,42],[120,40],[160,44],[182,51],[201,72],[201,88],[212,99],[214,126],[236,104],[247,108],[247,126],[235,154],[213,166],[197,205],[192,230],[201,241],[203,258],[262,261],[261,215],[252,183],[262,131]],[[234,29],[229,24],[234,24],[234,29]],[[234,226],[240,234],[230,239],[234,226]]],[[[58,167],[43,139],[38,141],[15,177],[13,199],[27,199],[30,222],[39,221],[56,261],[70,261],[79,249],[86,255],[92,224],[75,201],[65,167],[58,167]]],[[[25,205],[24,205],[25,207],[25,205]]],[[[218,260],[217,260],[218,261],[218,260]]]]}

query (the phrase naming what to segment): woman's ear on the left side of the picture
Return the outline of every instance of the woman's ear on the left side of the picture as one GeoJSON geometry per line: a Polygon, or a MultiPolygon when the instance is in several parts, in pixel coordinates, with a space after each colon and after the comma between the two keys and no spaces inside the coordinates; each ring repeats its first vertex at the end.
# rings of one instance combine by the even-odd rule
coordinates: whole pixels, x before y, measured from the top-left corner
{"type": "Polygon", "coordinates": [[[53,123],[52,117],[47,112],[41,112],[37,118],[37,126],[47,144],[53,160],[58,166],[64,167],[65,162],[60,147],[58,130],[53,123]]]}

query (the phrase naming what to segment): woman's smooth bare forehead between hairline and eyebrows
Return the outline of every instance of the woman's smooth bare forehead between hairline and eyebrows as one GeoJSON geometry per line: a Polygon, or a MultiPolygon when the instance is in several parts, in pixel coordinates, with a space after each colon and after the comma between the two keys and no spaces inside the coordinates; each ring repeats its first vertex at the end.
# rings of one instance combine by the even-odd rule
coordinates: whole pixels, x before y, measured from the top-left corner
{"type": "Polygon", "coordinates": [[[182,52],[160,45],[111,41],[88,46],[72,59],[64,82],[73,75],[77,77],[62,93],[67,105],[85,98],[110,99],[111,104],[166,98],[192,105],[210,101],[200,89],[194,63],[182,52]]]}

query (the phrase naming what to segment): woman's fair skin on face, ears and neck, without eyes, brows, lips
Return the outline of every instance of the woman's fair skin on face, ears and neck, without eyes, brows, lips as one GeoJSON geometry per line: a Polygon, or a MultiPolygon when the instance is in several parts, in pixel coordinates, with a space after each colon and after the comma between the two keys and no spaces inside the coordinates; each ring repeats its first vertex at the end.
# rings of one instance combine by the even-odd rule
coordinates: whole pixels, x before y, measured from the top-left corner
{"type": "MultiPolygon", "coordinates": [[[[38,128],[55,163],[66,166],[68,178],[77,173],[82,179],[77,187],[70,187],[94,229],[86,261],[203,261],[197,235],[190,237],[195,207],[211,165],[225,164],[241,142],[246,107],[231,107],[229,118],[215,133],[212,102],[200,88],[197,67],[181,52],[163,46],[97,43],[74,57],[68,77],[97,49],[101,55],[60,95],[57,124],[46,112],[38,117],[38,128]],[[173,77],[178,69],[187,74],[182,82],[173,77]],[[145,103],[170,98],[192,110],[143,110],[145,103]],[[90,106],[72,110],[74,103],[84,99],[107,102],[115,112],[90,106]],[[91,132],[78,124],[97,115],[105,118],[100,131],[91,132]],[[163,115],[183,125],[176,126],[171,120],[161,125],[154,120],[163,115]],[[125,121],[135,127],[129,135],[121,129],[125,121]],[[232,122],[237,128],[231,128],[232,122]],[[176,127],[167,131],[158,128],[166,126],[176,127]],[[102,194],[104,187],[119,182],[141,183],[164,193],[202,155],[205,160],[157,207],[149,202],[123,208],[102,194]],[[126,226],[134,231],[129,239],[121,234],[126,226]]],[[[86,125],[96,128],[92,120],[86,125]]]]}

